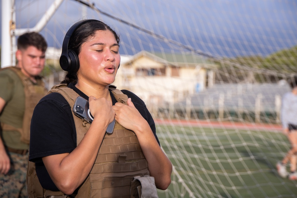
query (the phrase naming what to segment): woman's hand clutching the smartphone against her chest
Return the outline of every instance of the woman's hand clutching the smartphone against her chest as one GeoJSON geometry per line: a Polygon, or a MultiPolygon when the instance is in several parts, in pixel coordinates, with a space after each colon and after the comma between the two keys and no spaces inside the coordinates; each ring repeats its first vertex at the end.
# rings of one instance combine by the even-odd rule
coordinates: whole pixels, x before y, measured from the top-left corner
{"type": "Polygon", "coordinates": [[[89,108],[94,120],[96,118],[105,119],[108,122],[107,125],[113,121],[116,115],[111,103],[105,98],[96,99],[94,96],[90,96],[89,108]]]}

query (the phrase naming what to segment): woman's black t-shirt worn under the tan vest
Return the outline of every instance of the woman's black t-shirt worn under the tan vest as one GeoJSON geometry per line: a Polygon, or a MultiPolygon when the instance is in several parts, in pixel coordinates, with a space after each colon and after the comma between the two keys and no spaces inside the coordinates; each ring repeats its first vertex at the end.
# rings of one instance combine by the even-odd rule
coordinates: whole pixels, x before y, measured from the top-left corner
{"type": "MultiPolygon", "coordinates": [[[[68,87],[72,88],[83,98],[89,99],[89,97],[76,88],[74,84],[70,83],[68,87]]],[[[149,123],[159,143],[154,120],[149,110],[146,108],[145,103],[132,92],[128,90],[121,91],[131,98],[134,106],[149,123]]],[[[110,91],[110,93],[112,92],[110,91]]],[[[110,95],[114,105],[117,101],[113,94],[110,95]]],[[[35,162],[36,173],[43,188],[59,191],[50,179],[42,162],[42,157],[70,153],[75,148],[76,129],[69,103],[59,93],[51,93],[44,96],[35,107],[32,116],[29,154],[29,160],[35,162]]]]}

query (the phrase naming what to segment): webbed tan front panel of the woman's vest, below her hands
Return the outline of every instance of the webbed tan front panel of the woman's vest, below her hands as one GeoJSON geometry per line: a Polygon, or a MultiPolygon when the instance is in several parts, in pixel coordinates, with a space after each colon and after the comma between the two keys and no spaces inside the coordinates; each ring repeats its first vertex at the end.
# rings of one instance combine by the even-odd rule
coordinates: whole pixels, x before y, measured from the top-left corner
{"type": "MultiPolygon", "coordinates": [[[[102,141],[89,175],[90,197],[130,197],[135,176],[149,175],[148,163],[134,132],[116,122],[113,134],[102,141]]],[[[82,186],[78,191],[86,193],[82,186]]]]}

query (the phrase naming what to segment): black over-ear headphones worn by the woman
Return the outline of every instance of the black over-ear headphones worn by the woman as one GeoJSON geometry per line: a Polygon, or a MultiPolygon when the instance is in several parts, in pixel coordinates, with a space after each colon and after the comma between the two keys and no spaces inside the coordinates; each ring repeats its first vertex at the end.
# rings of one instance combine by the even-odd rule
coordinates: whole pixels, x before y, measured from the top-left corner
{"type": "Polygon", "coordinates": [[[67,72],[77,72],[79,68],[79,60],[78,55],[73,50],[68,50],[69,39],[73,32],[81,25],[85,23],[89,23],[92,21],[98,21],[95,19],[87,19],[87,20],[80,20],[76,22],[73,26],[69,28],[67,31],[63,45],[62,45],[62,53],[60,56],[60,66],[64,71],[67,72]]]}

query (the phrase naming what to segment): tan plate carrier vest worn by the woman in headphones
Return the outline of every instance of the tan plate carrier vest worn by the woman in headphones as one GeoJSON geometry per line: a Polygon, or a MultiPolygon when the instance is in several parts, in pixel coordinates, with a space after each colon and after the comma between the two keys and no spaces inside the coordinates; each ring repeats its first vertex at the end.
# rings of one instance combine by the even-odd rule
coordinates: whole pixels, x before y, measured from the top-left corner
{"type": "MultiPolygon", "coordinates": [[[[112,85],[116,100],[127,104],[127,95],[112,85]]],[[[69,102],[71,109],[78,94],[66,84],[54,86],[49,92],[58,92],[69,102]]],[[[89,129],[90,124],[75,116],[77,145],[89,129]]],[[[83,163],[83,162],[82,162],[83,163]]],[[[29,161],[27,173],[28,194],[36,197],[157,197],[154,178],[149,176],[148,163],[134,132],[116,122],[113,134],[103,138],[94,166],[79,187],[78,194],[67,196],[60,191],[43,189],[35,171],[35,163],[29,161]],[[145,185],[143,185],[145,183],[145,185]],[[147,195],[145,195],[147,194],[147,195]],[[151,195],[152,194],[152,195],[151,195]]]]}

